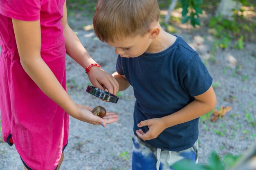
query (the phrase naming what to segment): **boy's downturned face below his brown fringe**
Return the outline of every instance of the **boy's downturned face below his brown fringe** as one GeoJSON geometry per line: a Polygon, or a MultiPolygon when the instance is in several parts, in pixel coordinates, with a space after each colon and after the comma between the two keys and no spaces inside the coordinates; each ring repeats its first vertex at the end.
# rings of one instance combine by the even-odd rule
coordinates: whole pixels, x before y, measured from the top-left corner
{"type": "Polygon", "coordinates": [[[121,57],[138,57],[145,53],[151,43],[148,34],[141,37],[137,35],[133,38],[123,38],[122,40],[114,40],[114,42],[107,42],[108,45],[115,48],[115,53],[121,57]]]}

